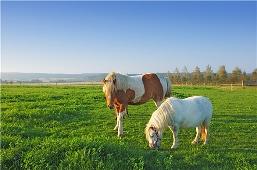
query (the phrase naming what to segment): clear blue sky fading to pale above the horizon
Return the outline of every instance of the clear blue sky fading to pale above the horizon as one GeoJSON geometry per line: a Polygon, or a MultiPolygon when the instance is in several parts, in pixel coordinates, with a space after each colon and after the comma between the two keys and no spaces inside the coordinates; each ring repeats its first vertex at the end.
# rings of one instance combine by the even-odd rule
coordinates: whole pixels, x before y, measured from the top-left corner
{"type": "Polygon", "coordinates": [[[1,72],[257,68],[257,1],[0,1],[1,72]]]}

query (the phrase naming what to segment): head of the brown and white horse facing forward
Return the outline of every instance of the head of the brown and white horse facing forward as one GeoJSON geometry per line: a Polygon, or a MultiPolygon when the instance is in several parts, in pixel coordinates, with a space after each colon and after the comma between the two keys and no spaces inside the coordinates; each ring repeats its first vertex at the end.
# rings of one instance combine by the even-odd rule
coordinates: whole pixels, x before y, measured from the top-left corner
{"type": "Polygon", "coordinates": [[[116,79],[113,77],[109,77],[108,79],[103,79],[104,87],[103,91],[105,93],[105,98],[107,101],[107,106],[109,109],[113,109],[114,107],[114,98],[116,95],[116,79]]]}

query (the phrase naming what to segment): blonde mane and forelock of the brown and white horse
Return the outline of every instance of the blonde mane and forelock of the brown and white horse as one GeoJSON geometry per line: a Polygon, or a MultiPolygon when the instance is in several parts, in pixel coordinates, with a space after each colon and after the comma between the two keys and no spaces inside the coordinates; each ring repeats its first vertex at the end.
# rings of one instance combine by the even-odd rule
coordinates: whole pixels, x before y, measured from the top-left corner
{"type": "Polygon", "coordinates": [[[105,78],[105,80],[107,81],[103,87],[103,91],[105,93],[112,93],[116,90],[126,91],[129,88],[129,81],[132,81],[132,79],[129,76],[117,73],[115,71],[111,71],[110,74],[105,78]],[[114,85],[113,83],[114,79],[116,79],[116,85],[114,85]]]}

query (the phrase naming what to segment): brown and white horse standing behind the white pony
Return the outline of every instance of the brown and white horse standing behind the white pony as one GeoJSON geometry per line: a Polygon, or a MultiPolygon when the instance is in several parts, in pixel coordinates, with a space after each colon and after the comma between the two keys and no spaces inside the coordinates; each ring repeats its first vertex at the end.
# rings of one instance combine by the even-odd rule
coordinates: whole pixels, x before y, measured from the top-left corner
{"type": "Polygon", "coordinates": [[[113,130],[118,129],[118,137],[123,135],[122,123],[128,104],[139,105],[152,99],[159,107],[163,99],[172,94],[169,78],[154,73],[129,77],[112,71],[103,79],[103,83],[108,108],[115,107],[117,114],[117,124],[113,130]]]}

